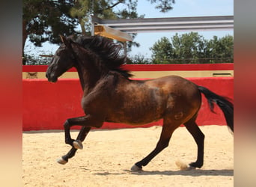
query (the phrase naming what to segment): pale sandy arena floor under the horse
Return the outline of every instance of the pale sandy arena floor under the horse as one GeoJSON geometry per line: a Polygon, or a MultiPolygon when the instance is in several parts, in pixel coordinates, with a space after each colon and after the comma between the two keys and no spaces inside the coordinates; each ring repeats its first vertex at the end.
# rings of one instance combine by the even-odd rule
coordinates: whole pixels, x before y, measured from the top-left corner
{"type": "MultiPolygon", "coordinates": [[[[23,186],[234,186],[234,138],[227,126],[201,126],[205,135],[204,166],[180,171],[176,161],[197,156],[192,135],[180,127],[169,147],[141,172],[129,169],[156,146],[162,127],[93,130],[84,149],[66,165],[56,162],[70,150],[64,132],[23,132],[23,186]]],[[[76,138],[78,131],[72,131],[76,138]]]]}

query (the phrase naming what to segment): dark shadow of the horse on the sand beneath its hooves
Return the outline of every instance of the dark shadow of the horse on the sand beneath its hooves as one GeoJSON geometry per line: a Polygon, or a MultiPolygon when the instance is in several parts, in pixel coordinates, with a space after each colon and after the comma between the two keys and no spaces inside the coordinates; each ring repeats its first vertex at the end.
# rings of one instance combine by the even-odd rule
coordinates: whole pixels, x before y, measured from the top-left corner
{"type": "Polygon", "coordinates": [[[183,176],[234,176],[233,169],[224,169],[224,170],[202,170],[196,169],[191,171],[138,171],[132,172],[129,170],[124,170],[123,172],[116,171],[96,171],[95,175],[122,175],[122,174],[132,174],[132,175],[183,175],[183,176]]]}

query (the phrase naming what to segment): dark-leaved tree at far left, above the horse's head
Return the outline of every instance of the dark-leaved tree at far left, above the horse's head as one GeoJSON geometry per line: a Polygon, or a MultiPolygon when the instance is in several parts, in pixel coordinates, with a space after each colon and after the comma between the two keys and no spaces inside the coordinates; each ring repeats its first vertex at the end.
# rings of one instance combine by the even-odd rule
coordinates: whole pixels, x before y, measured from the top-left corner
{"type": "MultiPolygon", "coordinates": [[[[34,46],[45,41],[60,43],[58,34],[76,33],[77,19],[70,16],[73,1],[24,0],[22,13],[22,55],[27,38],[34,46]]],[[[23,62],[24,64],[24,62],[23,62]]]]}

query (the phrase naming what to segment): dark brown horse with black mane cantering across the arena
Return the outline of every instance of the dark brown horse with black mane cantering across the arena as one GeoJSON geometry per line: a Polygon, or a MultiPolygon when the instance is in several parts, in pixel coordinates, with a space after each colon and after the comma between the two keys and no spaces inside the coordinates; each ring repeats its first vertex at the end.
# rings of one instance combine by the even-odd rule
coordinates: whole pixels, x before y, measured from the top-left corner
{"type": "Polygon", "coordinates": [[[162,132],[151,153],[136,162],[132,171],[141,171],[158,153],[168,147],[171,135],[181,124],[186,126],[198,147],[195,162],[189,169],[204,164],[204,133],[196,123],[201,107],[201,93],[207,98],[212,112],[214,105],[221,108],[226,123],[234,132],[234,105],[231,99],[190,82],[180,76],[164,76],[158,79],[135,80],[124,68],[126,56],[121,44],[98,35],[60,36],[61,45],[56,50],[46,70],[49,82],[75,67],[82,86],[82,109],[84,116],[73,117],[64,122],[65,143],[70,151],[57,162],[64,165],[82,150],[82,141],[91,128],[100,128],[104,122],[127,123],[139,126],[162,119],[162,132]],[[81,126],[76,140],[71,138],[70,128],[81,126]]]}

